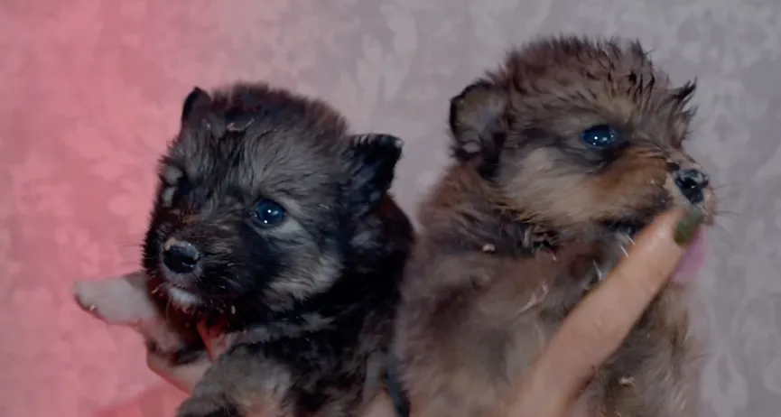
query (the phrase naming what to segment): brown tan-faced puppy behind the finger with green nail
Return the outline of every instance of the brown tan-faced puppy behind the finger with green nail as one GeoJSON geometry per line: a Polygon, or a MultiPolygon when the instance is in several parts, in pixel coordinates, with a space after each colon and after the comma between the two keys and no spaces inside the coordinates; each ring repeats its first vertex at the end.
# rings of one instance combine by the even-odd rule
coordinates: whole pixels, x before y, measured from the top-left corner
{"type": "MultiPolygon", "coordinates": [[[[708,176],[683,151],[694,89],[638,42],[562,36],[509,52],[451,99],[454,161],[421,206],[398,315],[414,415],[501,410],[637,230],[673,206],[712,221],[708,176]]],[[[575,415],[697,415],[685,293],[658,296],[575,415]]]]}

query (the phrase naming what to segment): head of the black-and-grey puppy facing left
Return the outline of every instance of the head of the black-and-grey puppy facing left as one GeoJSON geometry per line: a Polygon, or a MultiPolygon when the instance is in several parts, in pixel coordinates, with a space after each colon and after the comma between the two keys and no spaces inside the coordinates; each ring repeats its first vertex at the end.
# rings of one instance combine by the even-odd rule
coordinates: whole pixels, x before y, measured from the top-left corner
{"type": "Polygon", "coordinates": [[[144,268],[183,309],[288,309],[339,278],[400,155],[399,139],[350,135],[321,101],[195,88],[161,162],[144,268]]]}

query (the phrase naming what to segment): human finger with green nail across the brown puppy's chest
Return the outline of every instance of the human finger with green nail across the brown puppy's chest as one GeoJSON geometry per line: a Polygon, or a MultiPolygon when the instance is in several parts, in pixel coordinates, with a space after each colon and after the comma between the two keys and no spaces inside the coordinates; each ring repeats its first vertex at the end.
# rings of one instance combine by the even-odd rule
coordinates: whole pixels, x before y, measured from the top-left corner
{"type": "Polygon", "coordinates": [[[693,275],[702,261],[702,246],[693,245],[702,239],[701,223],[702,213],[673,210],[646,227],[628,257],[564,320],[509,408],[496,415],[570,416],[595,369],[620,347],[656,294],[674,275],[676,281],[693,275]]]}

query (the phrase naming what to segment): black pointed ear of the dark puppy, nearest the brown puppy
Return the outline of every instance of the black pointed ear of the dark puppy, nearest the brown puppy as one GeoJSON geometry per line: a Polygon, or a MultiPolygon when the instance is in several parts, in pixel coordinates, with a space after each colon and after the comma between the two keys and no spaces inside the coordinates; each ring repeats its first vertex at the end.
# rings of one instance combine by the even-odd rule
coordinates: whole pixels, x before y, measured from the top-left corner
{"type": "Polygon", "coordinates": [[[363,216],[377,207],[394,180],[404,142],[390,134],[356,134],[349,138],[352,207],[363,216]]]}

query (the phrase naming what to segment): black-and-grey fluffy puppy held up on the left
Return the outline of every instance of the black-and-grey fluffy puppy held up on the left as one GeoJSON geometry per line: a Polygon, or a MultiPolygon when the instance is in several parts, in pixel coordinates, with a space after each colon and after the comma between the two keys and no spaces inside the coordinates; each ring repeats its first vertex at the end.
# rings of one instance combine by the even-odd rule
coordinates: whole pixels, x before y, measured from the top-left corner
{"type": "Polygon", "coordinates": [[[352,416],[377,394],[413,242],[387,194],[400,155],[283,89],[185,99],[144,269],[169,308],[236,341],[178,415],[352,416]]]}

